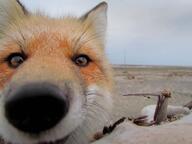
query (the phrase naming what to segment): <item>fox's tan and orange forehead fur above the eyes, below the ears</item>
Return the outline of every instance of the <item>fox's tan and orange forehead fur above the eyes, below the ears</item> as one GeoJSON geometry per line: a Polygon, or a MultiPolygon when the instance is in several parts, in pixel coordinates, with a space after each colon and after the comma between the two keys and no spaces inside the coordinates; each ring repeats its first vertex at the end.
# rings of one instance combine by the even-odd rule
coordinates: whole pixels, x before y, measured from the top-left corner
{"type": "Polygon", "coordinates": [[[104,45],[99,41],[94,29],[74,17],[59,20],[28,18],[21,21],[19,26],[11,26],[7,37],[2,41],[4,45],[1,49],[10,49],[13,52],[21,49],[29,55],[37,50],[50,54],[53,51],[63,51],[67,56],[86,53],[93,59],[99,59],[104,51],[104,45]]]}

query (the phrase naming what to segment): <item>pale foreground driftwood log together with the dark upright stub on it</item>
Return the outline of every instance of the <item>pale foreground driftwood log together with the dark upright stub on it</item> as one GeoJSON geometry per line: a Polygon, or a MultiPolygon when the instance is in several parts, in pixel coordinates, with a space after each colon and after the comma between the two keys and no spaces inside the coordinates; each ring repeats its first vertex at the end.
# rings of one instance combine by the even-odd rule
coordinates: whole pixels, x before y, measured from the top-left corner
{"type": "Polygon", "coordinates": [[[121,118],[114,123],[114,125],[104,128],[108,130],[107,133],[103,133],[103,131],[97,133],[97,136],[100,136],[97,138],[101,139],[92,144],[191,144],[192,113],[190,113],[190,109],[192,108],[192,101],[180,107],[168,106],[168,98],[171,97],[169,91],[162,91],[160,93],[126,94],[124,96],[146,97],[149,95],[158,97],[157,105],[153,107],[155,110],[151,122],[147,122],[147,115],[134,118],[132,122],[128,119],[126,120],[126,118],[121,118]],[[177,113],[185,112],[188,114],[187,116],[174,122],[159,125],[166,121],[171,114],[176,115],[177,113]]]}

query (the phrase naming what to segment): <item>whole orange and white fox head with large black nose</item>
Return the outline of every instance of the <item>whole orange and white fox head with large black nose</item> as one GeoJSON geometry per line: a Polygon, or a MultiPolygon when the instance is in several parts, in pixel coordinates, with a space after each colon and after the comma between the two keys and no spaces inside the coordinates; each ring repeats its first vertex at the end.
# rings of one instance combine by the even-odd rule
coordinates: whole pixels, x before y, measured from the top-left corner
{"type": "Polygon", "coordinates": [[[0,0],[0,136],[5,143],[89,143],[109,120],[107,4],[80,18],[0,0]]]}

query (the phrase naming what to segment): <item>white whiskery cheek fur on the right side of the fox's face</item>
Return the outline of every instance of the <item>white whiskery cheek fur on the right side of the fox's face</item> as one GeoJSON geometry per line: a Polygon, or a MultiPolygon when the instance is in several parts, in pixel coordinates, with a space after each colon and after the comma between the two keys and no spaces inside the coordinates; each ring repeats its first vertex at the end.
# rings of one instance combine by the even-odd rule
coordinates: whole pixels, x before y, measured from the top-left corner
{"type": "Polygon", "coordinates": [[[69,137],[66,144],[88,144],[87,138],[93,138],[110,120],[109,107],[112,104],[111,94],[97,85],[91,85],[86,91],[87,103],[83,111],[85,120],[69,137]],[[103,104],[105,103],[105,105],[103,104]],[[109,105],[108,105],[109,104],[109,105]]]}

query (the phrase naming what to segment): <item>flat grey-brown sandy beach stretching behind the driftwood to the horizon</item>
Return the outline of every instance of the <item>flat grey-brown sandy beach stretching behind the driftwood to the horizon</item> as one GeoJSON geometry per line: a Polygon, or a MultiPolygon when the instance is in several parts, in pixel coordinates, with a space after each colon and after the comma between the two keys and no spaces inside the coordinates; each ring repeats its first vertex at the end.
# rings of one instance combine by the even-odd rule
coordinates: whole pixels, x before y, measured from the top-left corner
{"type": "Polygon", "coordinates": [[[114,66],[114,75],[121,106],[127,116],[137,116],[157,97],[127,96],[128,93],[158,93],[164,89],[172,93],[171,105],[184,105],[192,100],[192,68],[159,66],[114,66]]]}

